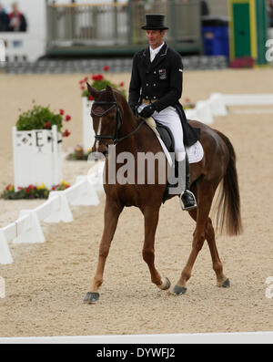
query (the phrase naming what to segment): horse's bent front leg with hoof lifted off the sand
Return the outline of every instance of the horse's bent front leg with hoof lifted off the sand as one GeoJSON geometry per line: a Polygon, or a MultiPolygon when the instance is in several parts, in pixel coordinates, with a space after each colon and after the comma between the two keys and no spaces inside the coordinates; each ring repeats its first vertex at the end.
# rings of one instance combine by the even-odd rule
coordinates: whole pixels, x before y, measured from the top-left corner
{"type": "Polygon", "coordinates": [[[142,250],[144,261],[147,263],[152,283],[158,288],[166,290],[170,287],[167,277],[161,278],[155,267],[155,236],[157,231],[159,208],[147,207],[144,212],[145,218],[145,240],[142,250]]]}

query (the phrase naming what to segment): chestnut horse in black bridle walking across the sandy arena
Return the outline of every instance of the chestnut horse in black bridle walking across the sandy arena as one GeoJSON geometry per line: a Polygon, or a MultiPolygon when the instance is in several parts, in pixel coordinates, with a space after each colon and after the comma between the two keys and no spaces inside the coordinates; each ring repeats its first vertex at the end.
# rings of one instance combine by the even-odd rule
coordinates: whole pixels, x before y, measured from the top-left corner
{"type": "MultiPolygon", "coordinates": [[[[116,149],[118,156],[122,152],[131,152],[135,160],[139,152],[162,152],[161,145],[144,119],[138,119],[130,109],[126,98],[115,88],[106,86],[101,91],[92,88],[87,83],[89,94],[94,98],[91,109],[93,128],[95,130],[94,152],[106,154],[110,146],[116,149]]],[[[190,164],[191,185],[197,199],[197,208],[188,211],[196,222],[193,233],[192,249],[177,284],[172,289],[174,295],[184,295],[187,291],[187,282],[192,274],[197,254],[207,240],[212,258],[212,267],[216,274],[217,286],[228,287],[229,279],[223,273],[223,264],[217,253],[215,230],[209,217],[211,204],[219,188],[217,202],[217,224],[221,232],[225,227],[229,235],[238,235],[242,232],[240,215],[240,194],[238,186],[238,172],[236,168],[235,150],[227,137],[216,129],[212,129],[197,120],[188,120],[193,128],[200,129],[200,143],[204,149],[202,160],[190,164]]],[[[111,166],[106,157],[105,175],[111,166]]],[[[116,173],[123,166],[115,164],[116,173]]],[[[106,258],[113,240],[118,217],[126,206],[136,206],[144,215],[145,238],[142,255],[147,263],[151,281],[161,290],[170,287],[167,277],[161,276],[155,266],[155,234],[160,206],[167,187],[167,174],[165,182],[158,181],[156,165],[156,179],[150,184],[147,178],[143,184],[136,182],[109,182],[106,177],[104,190],[106,205],[104,213],[104,231],[99,246],[96,274],[91,287],[86,293],[84,303],[96,304],[99,299],[99,287],[103,283],[103,274],[106,258]]],[[[137,174],[137,168],[136,168],[137,174]]],[[[136,175],[135,175],[136,179],[136,175]]],[[[169,198],[176,196],[170,195],[169,198]]]]}

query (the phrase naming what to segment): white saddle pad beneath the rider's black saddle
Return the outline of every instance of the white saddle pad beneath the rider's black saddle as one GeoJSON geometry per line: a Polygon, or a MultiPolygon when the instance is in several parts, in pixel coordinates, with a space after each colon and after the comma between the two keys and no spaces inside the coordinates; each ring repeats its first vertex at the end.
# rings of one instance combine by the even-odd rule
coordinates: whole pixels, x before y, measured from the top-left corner
{"type": "MultiPolygon", "coordinates": [[[[167,161],[171,165],[172,164],[171,157],[170,157],[170,155],[168,153],[168,150],[167,150],[167,147],[166,147],[165,143],[163,142],[163,140],[161,140],[160,135],[159,135],[159,133],[157,131],[157,124],[156,124],[155,119],[150,117],[149,119],[146,119],[146,122],[147,122],[147,125],[157,135],[157,139],[159,140],[159,143],[161,144],[161,147],[164,150],[164,153],[165,153],[165,155],[167,157],[167,161]]],[[[198,140],[192,146],[186,147],[186,151],[187,151],[187,157],[188,157],[189,163],[197,163],[200,160],[202,160],[203,157],[204,157],[203,147],[202,147],[201,143],[198,140]]]]}

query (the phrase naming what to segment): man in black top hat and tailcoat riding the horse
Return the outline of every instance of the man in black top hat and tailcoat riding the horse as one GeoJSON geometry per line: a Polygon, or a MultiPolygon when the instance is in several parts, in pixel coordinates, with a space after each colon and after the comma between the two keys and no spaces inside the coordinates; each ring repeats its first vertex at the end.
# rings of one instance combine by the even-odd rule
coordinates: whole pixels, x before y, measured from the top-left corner
{"type": "MultiPolygon", "coordinates": [[[[182,95],[183,65],[180,55],[167,47],[163,37],[163,15],[147,15],[146,30],[149,47],[137,52],[133,58],[129,87],[129,105],[136,114],[144,118],[153,116],[157,122],[167,126],[175,140],[175,156],[178,170],[185,169],[185,191],[180,194],[183,210],[197,207],[194,194],[189,191],[190,177],[187,152],[184,144],[193,145],[199,138],[196,129],[187,123],[184,110],[179,103],[182,95]]],[[[181,173],[180,173],[181,174],[181,173]]],[[[184,173],[183,173],[184,174],[184,173]]]]}

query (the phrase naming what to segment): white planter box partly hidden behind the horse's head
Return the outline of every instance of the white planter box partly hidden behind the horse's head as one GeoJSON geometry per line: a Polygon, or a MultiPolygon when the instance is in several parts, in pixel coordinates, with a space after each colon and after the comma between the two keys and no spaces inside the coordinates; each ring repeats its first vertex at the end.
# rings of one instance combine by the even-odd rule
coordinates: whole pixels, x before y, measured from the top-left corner
{"type": "Polygon", "coordinates": [[[95,141],[93,121],[90,116],[92,104],[93,100],[83,97],[83,148],[85,152],[92,149],[95,141]]]}

